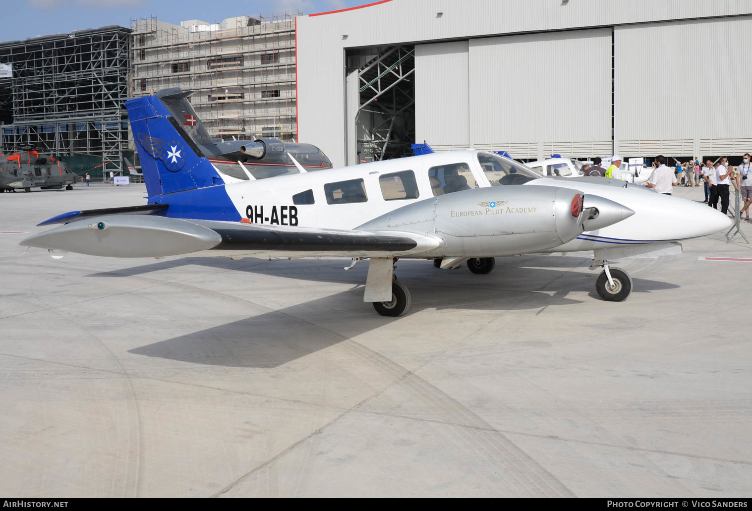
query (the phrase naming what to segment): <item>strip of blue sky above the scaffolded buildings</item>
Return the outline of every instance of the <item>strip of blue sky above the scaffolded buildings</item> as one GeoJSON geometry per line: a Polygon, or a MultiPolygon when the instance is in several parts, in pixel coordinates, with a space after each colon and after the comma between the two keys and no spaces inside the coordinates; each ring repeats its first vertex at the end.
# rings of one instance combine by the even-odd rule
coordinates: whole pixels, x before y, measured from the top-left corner
{"type": "Polygon", "coordinates": [[[101,26],[131,26],[131,18],[155,16],[178,24],[183,20],[208,23],[234,16],[271,16],[285,12],[313,14],[355,7],[373,0],[2,0],[0,41],[68,33],[101,26]]]}

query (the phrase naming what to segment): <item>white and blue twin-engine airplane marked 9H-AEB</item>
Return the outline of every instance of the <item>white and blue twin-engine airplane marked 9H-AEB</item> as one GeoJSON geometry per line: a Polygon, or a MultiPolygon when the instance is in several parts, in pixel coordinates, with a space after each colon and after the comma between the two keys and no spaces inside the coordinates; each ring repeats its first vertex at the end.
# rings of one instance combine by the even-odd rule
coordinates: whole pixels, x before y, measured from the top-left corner
{"type": "Polygon", "coordinates": [[[488,274],[498,256],[592,251],[599,295],[622,301],[632,280],[609,259],[681,252],[679,240],[730,225],[712,208],[641,186],[540,177],[474,150],[238,180],[198,156],[157,95],[126,107],[147,204],[64,213],[39,224],[62,225],[21,245],[55,256],[370,259],[364,301],[400,316],[410,293],[394,277],[399,259],[488,274]]]}

